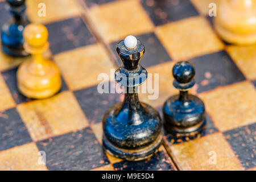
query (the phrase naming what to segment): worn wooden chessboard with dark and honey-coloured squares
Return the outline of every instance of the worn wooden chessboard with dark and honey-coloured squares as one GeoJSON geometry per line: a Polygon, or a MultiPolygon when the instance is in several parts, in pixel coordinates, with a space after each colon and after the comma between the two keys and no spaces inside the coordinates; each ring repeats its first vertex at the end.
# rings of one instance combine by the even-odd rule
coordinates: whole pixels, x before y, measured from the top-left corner
{"type": "MultiPolygon", "coordinates": [[[[49,31],[49,51],[63,86],[45,100],[18,92],[16,70],[30,56],[0,52],[1,170],[255,170],[256,46],[222,41],[208,16],[216,0],[27,0],[26,15],[49,31]],[[46,16],[39,16],[39,3],[46,16]],[[141,65],[159,74],[159,97],[141,101],[162,114],[177,94],[171,70],[180,60],[196,68],[192,94],[207,111],[207,124],[193,137],[164,131],[163,144],[149,159],[127,162],[102,149],[102,117],[122,94],[100,94],[100,73],[109,75],[121,61],[119,40],[134,35],[146,48],[141,65]],[[42,162],[42,156],[46,163],[42,162]]],[[[11,15],[0,0],[0,26],[11,15]]],[[[153,80],[154,81],[154,80],[153,80]]],[[[153,84],[154,85],[154,84],[153,84]]]]}

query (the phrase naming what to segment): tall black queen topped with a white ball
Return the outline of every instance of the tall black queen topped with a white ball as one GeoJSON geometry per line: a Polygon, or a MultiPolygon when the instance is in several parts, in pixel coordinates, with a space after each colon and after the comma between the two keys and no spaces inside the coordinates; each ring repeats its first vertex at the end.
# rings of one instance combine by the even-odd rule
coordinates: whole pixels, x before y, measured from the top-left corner
{"type": "Polygon", "coordinates": [[[146,69],[139,64],[145,52],[143,44],[130,35],[116,50],[123,64],[115,71],[115,80],[128,91],[124,101],[110,107],[103,118],[103,146],[117,158],[142,160],[158,151],[163,123],[158,111],[140,102],[135,92],[147,78],[146,69]]]}

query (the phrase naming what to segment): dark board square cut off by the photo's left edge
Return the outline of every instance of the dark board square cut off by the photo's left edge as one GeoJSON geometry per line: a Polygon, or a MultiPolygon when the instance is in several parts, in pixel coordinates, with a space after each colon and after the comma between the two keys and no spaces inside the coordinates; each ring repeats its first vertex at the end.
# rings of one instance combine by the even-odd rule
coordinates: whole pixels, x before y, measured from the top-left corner
{"type": "Polygon", "coordinates": [[[0,151],[31,141],[30,134],[15,108],[0,113],[0,151]]]}

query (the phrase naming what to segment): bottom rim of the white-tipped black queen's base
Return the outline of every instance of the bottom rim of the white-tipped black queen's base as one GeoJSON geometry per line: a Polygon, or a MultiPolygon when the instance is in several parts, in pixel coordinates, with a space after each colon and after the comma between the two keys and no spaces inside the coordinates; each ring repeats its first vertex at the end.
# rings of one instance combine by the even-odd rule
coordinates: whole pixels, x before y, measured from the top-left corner
{"type": "Polygon", "coordinates": [[[111,144],[108,139],[106,139],[105,135],[103,135],[102,142],[103,147],[108,154],[114,156],[115,158],[129,160],[129,161],[137,161],[147,159],[150,156],[154,155],[160,145],[162,144],[163,135],[160,134],[159,137],[153,142],[150,146],[140,148],[137,150],[127,150],[124,148],[118,148],[111,144]]]}

